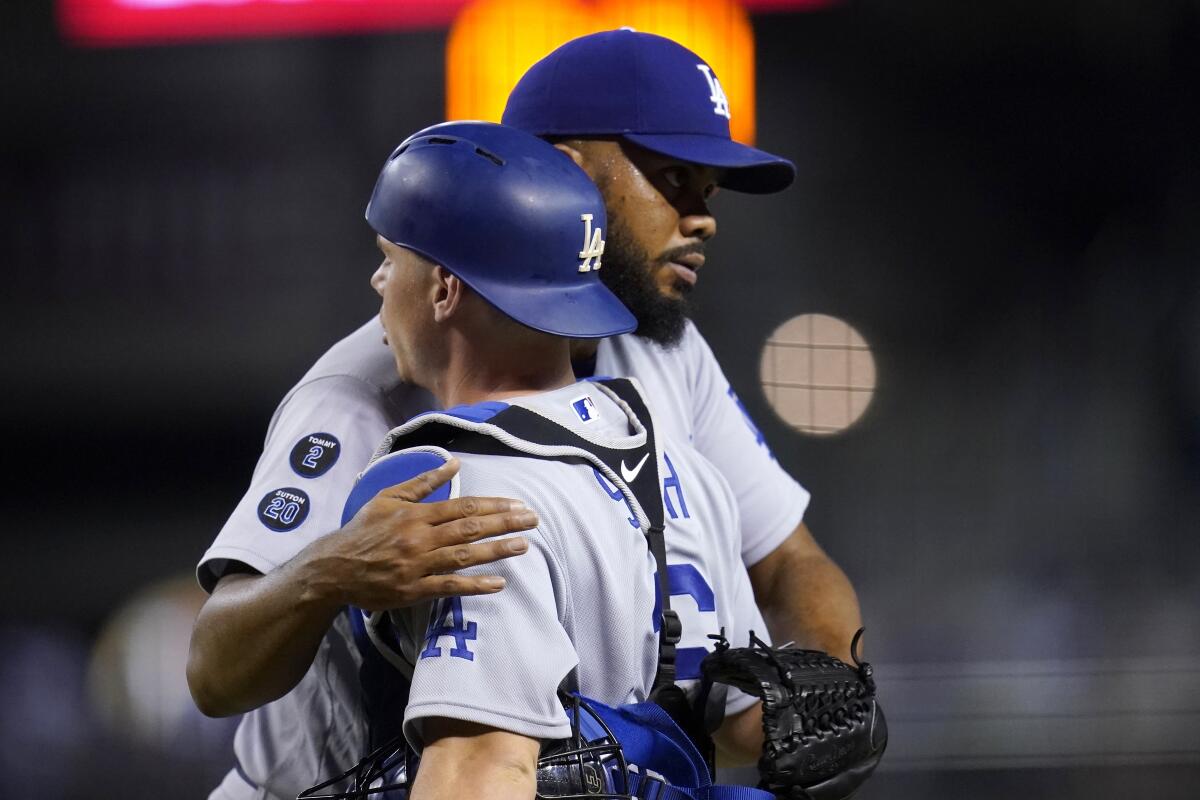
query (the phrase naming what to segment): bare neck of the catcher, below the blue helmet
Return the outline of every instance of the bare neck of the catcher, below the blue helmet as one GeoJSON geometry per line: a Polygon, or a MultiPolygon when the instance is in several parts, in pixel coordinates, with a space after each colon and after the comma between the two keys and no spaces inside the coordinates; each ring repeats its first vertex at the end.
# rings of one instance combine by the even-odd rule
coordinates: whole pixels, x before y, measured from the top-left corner
{"type": "Polygon", "coordinates": [[[460,347],[430,386],[442,408],[536,395],[575,383],[568,339],[520,348],[460,347]]]}

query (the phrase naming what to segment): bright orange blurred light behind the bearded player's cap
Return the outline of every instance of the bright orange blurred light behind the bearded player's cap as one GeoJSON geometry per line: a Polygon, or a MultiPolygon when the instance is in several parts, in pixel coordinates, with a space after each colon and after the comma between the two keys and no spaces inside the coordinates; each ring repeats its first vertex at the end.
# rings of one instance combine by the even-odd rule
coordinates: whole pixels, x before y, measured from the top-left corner
{"type": "Polygon", "coordinates": [[[708,61],[730,101],[731,134],[754,144],[754,31],[737,0],[476,0],[450,26],[446,119],[498,122],[535,61],[577,36],[623,25],[672,38],[708,61]]]}

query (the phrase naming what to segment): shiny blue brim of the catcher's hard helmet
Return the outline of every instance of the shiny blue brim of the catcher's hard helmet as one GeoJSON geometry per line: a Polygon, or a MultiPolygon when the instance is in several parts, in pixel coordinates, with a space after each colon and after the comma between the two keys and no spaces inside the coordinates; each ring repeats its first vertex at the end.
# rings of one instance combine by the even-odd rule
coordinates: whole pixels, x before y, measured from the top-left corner
{"type": "Polygon", "coordinates": [[[504,314],[536,331],[594,339],[630,333],[637,327],[637,318],[600,281],[574,287],[538,287],[492,282],[478,276],[463,279],[504,314]]]}

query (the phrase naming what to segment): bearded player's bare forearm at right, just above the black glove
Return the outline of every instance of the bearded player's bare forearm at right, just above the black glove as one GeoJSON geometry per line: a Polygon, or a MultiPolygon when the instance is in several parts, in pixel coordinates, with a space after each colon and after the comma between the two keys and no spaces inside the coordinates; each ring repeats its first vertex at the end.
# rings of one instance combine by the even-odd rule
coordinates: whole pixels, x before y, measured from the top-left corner
{"type": "Polygon", "coordinates": [[[803,523],[750,567],[750,583],[774,642],[796,642],[850,662],[851,638],[863,625],[858,596],[803,523]]]}

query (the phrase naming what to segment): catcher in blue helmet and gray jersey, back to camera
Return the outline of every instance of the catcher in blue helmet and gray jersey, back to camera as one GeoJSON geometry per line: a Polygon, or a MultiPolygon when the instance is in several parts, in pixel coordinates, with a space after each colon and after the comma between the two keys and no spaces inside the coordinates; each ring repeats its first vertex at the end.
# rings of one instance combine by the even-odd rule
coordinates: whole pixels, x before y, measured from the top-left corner
{"type": "MultiPolygon", "coordinates": [[[[571,368],[570,339],[636,324],[596,275],[605,213],[571,158],[498,125],[427,128],[385,163],[367,206],[384,255],[372,285],[398,374],[444,410],[392,428],[342,524],[451,459],[461,470],[428,499],[516,497],[539,524],[496,567],[503,593],[346,612],[366,736],[389,744],[305,796],[408,796],[412,780],[412,796],[428,798],[772,800],[714,787],[686,734],[646,702],[677,680],[698,688],[707,650],[691,644],[706,631],[744,640],[763,622],[722,535],[738,528],[728,485],[673,432],[656,435],[635,379],[578,381],[571,368]],[[676,581],[703,606],[686,639],[676,581]]],[[[754,720],[757,698],[731,690],[720,704],[732,723],[720,741],[756,752],[757,732],[734,717],[754,720]]]]}

